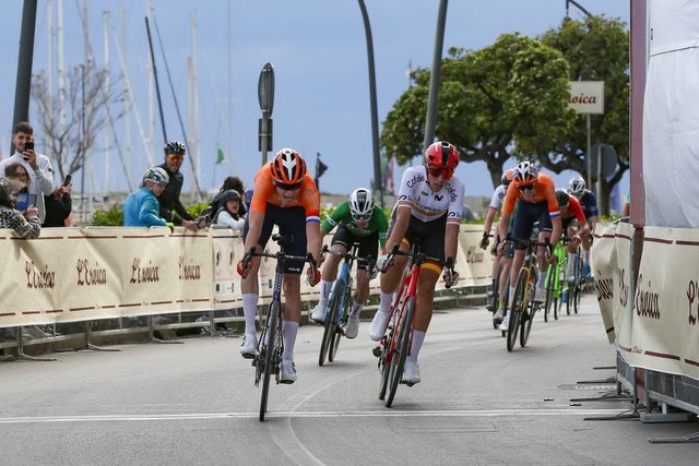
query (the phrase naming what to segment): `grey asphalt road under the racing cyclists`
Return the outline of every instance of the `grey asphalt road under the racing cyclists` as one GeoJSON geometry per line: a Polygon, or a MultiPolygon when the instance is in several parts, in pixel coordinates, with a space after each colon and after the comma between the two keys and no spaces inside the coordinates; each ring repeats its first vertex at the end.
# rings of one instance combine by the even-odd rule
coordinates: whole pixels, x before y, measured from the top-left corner
{"type": "Polygon", "coordinates": [[[392,408],[378,399],[368,322],[322,368],[321,328],[304,325],[298,382],[271,387],[264,422],[238,338],[2,362],[0,464],[696,465],[696,444],[649,439],[699,422],[590,420],[632,407],[600,398],[615,393],[615,351],[595,303],[588,295],[578,315],[538,315],[512,353],[483,308],[438,311],[423,382],[401,385],[392,408]]]}

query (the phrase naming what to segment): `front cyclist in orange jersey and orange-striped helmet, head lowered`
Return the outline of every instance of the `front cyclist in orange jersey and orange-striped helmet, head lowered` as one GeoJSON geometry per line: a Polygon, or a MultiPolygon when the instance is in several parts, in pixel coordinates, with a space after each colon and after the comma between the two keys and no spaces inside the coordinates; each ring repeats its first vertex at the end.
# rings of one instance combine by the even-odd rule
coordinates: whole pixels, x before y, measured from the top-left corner
{"type": "MultiPolygon", "coordinates": [[[[291,235],[293,244],[286,249],[289,255],[306,255],[310,252],[317,262],[320,258],[320,193],[313,179],[306,170],[306,162],[292,148],[283,148],[276,153],[274,160],[262,167],[254,176],[254,192],[250,203],[250,212],[246,219],[242,238],[245,251],[256,248],[258,252],[272,235],[276,225],[281,234],[291,235]]],[[[287,261],[284,271],[284,354],[282,355],[282,383],[296,382],[294,366],[294,344],[301,315],[300,274],[304,263],[287,261]]],[[[242,270],[238,263],[238,272],[242,276],[242,311],[245,313],[245,337],[240,345],[244,358],[253,358],[257,348],[254,320],[258,309],[259,284],[258,271],[260,258],[253,258],[249,266],[242,270]]],[[[316,268],[316,267],[312,267],[316,268]]],[[[310,275],[308,283],[313,286],[320,280],[320,272],[310,275]]]]}

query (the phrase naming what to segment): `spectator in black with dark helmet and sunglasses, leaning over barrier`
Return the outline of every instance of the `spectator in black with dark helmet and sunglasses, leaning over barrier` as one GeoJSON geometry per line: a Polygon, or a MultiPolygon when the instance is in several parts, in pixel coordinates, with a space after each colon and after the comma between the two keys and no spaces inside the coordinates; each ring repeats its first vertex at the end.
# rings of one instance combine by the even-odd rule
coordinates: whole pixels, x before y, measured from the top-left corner
{"type": "Polygon", "coordinates": [[[170,141],[165,144],[163,150],[165,151],[165,163],[158,165],[158,167],[166,171],[169,181],[161,194],[159,216],[175,225],[197,231],[199,229],[197,222],[179,200],[179,194],[185,183],[185,176],[179,171],[187,152],[185,144],[178,141],[170,141]]]}

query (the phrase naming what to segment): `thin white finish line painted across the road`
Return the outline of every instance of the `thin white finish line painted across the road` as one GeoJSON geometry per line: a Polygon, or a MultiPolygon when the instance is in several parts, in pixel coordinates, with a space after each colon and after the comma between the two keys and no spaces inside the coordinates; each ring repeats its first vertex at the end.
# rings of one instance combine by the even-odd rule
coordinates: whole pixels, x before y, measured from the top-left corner
{"type": "MultiPolygon", "coordinates": [[[[617,416],[620,409],[466,409],[466,410],[398,410],[376,411],[291,411],[268,413],[265,418],[395,418],[395,417],[554,417],[554,416],[617,416]]],[[[259,413],[192,413],[171,415],[95,415],[95,416],[36,416],[2,417],[0,423],[48,423],[48,422],[104,422],[104,421],[167,421],[202,419],[258,418],[259,413]]]]}

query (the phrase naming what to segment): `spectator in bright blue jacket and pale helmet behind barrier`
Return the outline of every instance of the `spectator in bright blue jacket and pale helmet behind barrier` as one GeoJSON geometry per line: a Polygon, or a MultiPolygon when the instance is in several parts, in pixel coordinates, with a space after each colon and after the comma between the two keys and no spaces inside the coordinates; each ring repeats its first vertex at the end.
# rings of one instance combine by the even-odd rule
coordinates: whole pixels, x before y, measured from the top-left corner
{"type": "Polygon", "coordinates": [[[168,225],[164,218],[157,215],[157,198],[163,194],[168,181],[169,177],[162,167],[151,167],[145,170],[141,189],[129,195],[122,203],[125,227],[164,227],[168,225]]]}

